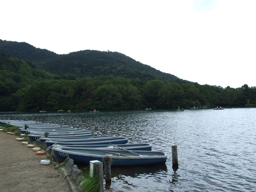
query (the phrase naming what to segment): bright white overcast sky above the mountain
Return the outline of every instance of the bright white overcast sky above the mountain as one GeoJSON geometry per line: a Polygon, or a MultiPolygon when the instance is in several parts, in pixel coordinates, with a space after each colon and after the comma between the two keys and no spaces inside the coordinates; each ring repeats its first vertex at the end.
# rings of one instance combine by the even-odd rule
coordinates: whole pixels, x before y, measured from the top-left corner
{"type": "Polygon", "coordinates": [[[255,0],[0,2],[0,39],[120,52],[199,84],[256,86],[255,0]]]}

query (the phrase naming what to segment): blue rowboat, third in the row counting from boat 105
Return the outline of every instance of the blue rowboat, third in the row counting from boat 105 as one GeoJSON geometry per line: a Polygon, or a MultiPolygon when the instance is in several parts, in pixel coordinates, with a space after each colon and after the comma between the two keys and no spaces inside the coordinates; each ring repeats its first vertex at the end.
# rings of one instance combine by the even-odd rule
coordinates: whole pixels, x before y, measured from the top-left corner
{"type": "Polygon", "coordinates": [[[59,141],[51,141],[46,140],[45,143],[47,147],[53,144],[60,144],[60,145],[108,145],[111,144],[125,144],[128,142],[126,137],[114,137],[114,138],[88,138],[88,139],[81,139],[81,140],[59,140],[59,141]]]}

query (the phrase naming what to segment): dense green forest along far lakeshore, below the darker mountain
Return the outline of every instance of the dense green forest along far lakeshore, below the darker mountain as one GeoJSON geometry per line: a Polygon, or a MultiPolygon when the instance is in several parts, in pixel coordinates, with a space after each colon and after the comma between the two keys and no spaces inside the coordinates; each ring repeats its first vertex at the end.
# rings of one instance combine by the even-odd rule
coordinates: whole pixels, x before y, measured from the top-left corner
{"type": "MultiPolygon", "coordinates": [[[[111,62],[111,61],[109,61],[111,62]]],[[[256,88],[113,75],[67,79],[0,52],[0,110],[256,107],[256,88]]]]}

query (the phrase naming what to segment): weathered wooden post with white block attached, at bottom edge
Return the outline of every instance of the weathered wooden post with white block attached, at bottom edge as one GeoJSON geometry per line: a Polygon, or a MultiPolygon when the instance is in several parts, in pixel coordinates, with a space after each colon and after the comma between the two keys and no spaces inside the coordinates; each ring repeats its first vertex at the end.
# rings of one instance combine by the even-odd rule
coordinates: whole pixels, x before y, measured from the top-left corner
{"type": "Polygon", "coordinates": [[[103,165],[100,161],[90,161],[90,177],[97,175],[100,181],[99,192],[104,192],[103,165]]]}

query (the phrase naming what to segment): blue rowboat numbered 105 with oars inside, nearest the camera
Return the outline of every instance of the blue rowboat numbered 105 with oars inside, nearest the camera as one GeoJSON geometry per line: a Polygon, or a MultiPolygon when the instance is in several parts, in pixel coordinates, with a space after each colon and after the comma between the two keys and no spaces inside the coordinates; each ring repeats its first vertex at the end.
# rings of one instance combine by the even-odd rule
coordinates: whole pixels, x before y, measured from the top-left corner
{"type": "Polygon", "coordinates": [[[90,161],[93,160],[104,162],[105,156],[111,157],[111,166],[159,164],[165,163],[167,159],[167,155],[163,151],[132,151],[141,156],[115,149],[61,149],[55,146],[52,151],[57,161],[63,162],[70,157],[75,164],[90,164],[90,161]]]}

